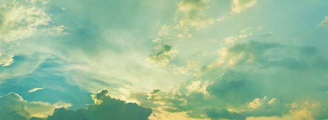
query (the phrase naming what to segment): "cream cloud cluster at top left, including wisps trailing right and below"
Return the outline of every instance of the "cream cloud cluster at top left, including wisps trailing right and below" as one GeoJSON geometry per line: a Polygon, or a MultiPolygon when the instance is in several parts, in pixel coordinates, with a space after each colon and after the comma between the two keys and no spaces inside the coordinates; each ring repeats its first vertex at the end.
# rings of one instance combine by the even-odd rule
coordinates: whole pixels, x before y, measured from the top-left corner
{"type": "MultiPolygon", "coordinates": [[[[45,7],[40,7],[40,4],[46,4],[49,0],[0,0],[0,65],[8,66],[14,62],[14,55],[32,54],[33,48],[28,48],[32,45],[27,40],[30,36],[41,35],[66,35],[70,34],[65,29],[64,25],[53,26],[49,23],[52,14],[45,11],[45,7]],[[44,31],[38,30],[43,27],[44,31]],[[37,34],[40,33],[40,34],[37,34]],[[24,39],[24,40],[22,40],[24,39]],[[23,41],[23,42],[22,42],[23,41]],[[29,49],[30,52],[21,51],[21,49],[29,49]],[[5,53],[5,51],[7,53],[5,53]],[[11,54],[11,55],[9,55],[11,54]]],[[[37,41],[37,39],[33,39],[37,41]]],[[[33,44],[35,45],[35,44],[33,44]]],[[[37,45],[35,45],[37,46],[37,45]]],[[[34,47],[35,48],[35,47],[34,47]]],[[[40,51],[42,48],[38,48],[40,51]]],[[[47,48],[48,49],[48,48],[47,48]]]]}

